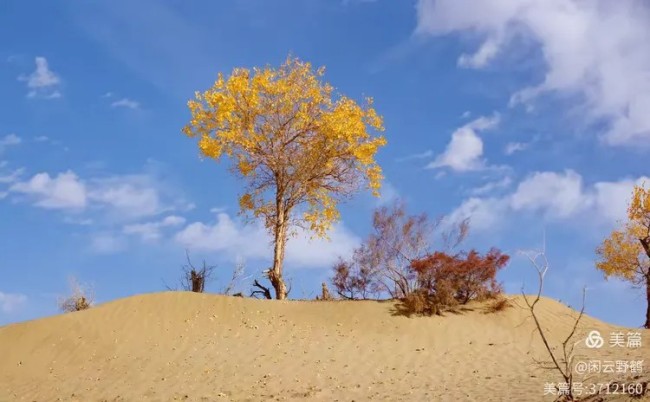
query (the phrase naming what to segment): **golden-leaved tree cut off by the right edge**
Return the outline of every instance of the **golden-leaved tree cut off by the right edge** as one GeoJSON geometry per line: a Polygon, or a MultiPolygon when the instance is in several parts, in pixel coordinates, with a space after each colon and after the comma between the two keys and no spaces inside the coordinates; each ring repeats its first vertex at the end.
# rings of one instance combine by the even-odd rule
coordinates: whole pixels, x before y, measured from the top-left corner
{"type": "Polygon", "coordinates": [[[646,290],[645,328],[650,328],[650,189],[635,186],[627,222],[596,249],[605,276],[630,281],[646,290]]]}

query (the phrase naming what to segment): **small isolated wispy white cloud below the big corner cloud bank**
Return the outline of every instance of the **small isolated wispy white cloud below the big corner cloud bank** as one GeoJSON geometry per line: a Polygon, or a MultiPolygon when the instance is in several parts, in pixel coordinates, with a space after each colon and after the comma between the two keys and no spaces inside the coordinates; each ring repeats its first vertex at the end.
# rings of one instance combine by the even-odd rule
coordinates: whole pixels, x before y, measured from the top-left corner
{"type": "Polygon", "coordinates": [[[485,167],[483,140],[477,132],[494,128],[499,123],[499,116],[480,117],[460,127],[451,135],[451,141],[445,152],[427,165],[428,168],[448,167],[458,172],[480,170],[485,167]]]}

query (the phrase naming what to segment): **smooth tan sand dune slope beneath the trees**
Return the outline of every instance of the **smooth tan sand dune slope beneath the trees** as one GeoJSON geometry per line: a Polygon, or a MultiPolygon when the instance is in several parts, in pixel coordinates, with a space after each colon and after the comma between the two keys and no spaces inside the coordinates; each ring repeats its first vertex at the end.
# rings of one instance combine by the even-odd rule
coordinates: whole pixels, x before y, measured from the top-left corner
{"type": "MultiPolygon", "coordinates": [[[[560,378],[534,363],[544,355],[526,310],[472,307],[409,319],[392,302],[140,295],[0,328],[0,401],[552,400],[544,383],[560,378]]],[[[553,342],[572,314],[541,302],[553,342]]],[[[642,349],[617,349],[610,331],[628,329],[585,317],[580,339],[593,329],[606,346],[580,342],[590,359],[650,356],[650,331],[642,349]]]]}

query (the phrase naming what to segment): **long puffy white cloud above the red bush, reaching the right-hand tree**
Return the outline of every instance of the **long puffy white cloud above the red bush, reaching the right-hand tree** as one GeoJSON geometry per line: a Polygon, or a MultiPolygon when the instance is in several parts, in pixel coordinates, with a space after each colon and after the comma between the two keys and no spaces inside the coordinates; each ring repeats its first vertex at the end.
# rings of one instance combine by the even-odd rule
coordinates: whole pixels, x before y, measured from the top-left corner
{"type": "Polygon", "coordinates": [[[622,179],[585,185],[572,170],[537,172],[502,197],[472,197],[450,215],[451,222],[470,218],[473,229],[489,229],[507,215],[537,213],[549,220],[588,219],[593,224],[614,225],[626,217],[633,186],[650,178],[622,179]]]}

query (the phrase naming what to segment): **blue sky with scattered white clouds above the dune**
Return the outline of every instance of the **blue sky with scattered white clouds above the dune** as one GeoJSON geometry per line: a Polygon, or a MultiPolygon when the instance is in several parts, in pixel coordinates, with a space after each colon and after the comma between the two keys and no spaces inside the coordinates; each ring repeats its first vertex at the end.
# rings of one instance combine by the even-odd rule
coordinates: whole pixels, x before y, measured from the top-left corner
{"type": "MultiPolygon", "coordinates": [[[[645,300],[605,281],[594,249],[650,175],[650,10],[640,1],[9,0],[0,4],[0,324],[56,313],[67,278],[99,302],[174,283],[189,248],[269,265],[237,216],[241,186],[181,134],[218,72],[291,54],[372,96],[388,145],[379,200],[342,207],[331,242],[292,239],[293,297],[314,297],[377,205],[471,217],[466,247],[513,255],[509,292],[533,289],[517,250],[546,233],[545,293],[639,326],[645,300]]],[[[650,181],[650,180],[649,180],[650,181]]],[[[244,287],[246,288],[246,287],[244,287]]]]}

